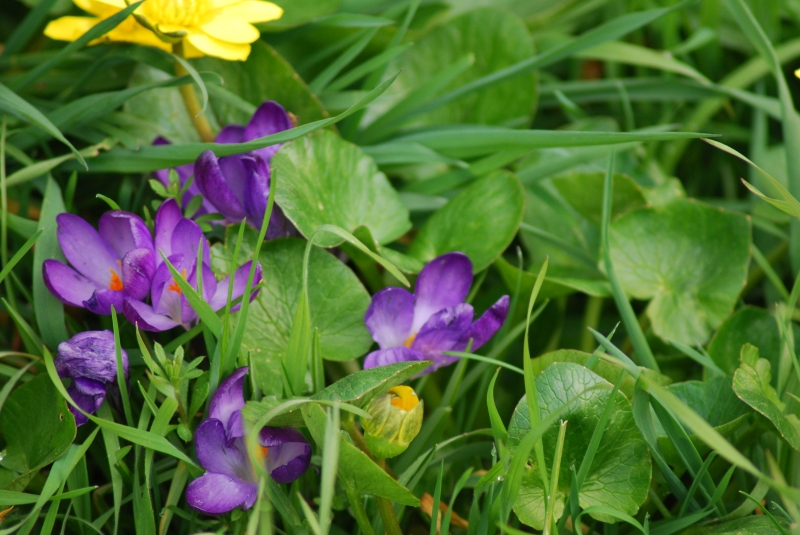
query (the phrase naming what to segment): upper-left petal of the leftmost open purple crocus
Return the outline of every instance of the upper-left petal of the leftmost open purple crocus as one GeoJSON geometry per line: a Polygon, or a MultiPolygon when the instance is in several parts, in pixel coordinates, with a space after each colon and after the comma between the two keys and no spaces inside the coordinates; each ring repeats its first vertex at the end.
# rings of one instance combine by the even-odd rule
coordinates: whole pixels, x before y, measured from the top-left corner
{"type": "Polygon", "coordinates": [[[75,270],[95,283],[108,288],[111,271],[119,275],[118,256],[100,234],[86,221],[73,214],[59,214],[58,243],[75,270]]]}

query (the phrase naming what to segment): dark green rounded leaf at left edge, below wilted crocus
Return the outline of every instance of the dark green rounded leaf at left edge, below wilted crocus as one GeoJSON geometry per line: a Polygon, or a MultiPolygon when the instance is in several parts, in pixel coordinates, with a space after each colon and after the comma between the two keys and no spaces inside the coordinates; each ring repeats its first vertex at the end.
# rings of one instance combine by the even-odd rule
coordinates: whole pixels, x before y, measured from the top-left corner
{"type": "Polygon", "coordinates": [[[75,418],[50,378],[39,374],[6,400],[0,413],[5,468],[25,474],[52,463],[75,440],[75,418]]]}

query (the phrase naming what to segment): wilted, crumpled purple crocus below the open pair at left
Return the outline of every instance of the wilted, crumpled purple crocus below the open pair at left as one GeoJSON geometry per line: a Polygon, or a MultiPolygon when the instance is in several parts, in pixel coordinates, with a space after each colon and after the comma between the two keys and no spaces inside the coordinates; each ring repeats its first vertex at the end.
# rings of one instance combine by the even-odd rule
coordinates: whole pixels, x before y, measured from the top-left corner
{"type": "MultiPolygon", "coordinates": [[[[128,354],[120,350],[122,368],[128,376],[128,354]]],[[[94,414],[106,397],[106,389],[117,381],[117,356],[114,351],[114,333],[87,331],[78,333],[58,344],[55,359],[56,372],[64,379],[72,379],[67,388],[72,400],[89,414],[94,414]]],[[[89,419],[70,405],[75,423],[85,424],[89,419]]]]}

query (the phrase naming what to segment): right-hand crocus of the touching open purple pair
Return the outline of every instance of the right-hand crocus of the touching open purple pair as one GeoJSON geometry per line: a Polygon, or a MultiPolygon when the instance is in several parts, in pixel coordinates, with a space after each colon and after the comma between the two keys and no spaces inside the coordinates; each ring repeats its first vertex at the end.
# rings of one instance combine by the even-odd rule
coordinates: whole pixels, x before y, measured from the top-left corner
{"type": "MultiPolygon", "coordinates": [[[[156,212],[155,246],[158,253],[155,259],[155,275],[153,275],[150,285],[152,304],[147,304],[141,299],[126,298],[123,310],[125,317],[131,323],[137,324],[140,329],[145,331],[165,331],[178,325],[183,325],[188,329],[197,321],[197,313],[183,295],[180,286],[175,282],[161,253],[195,289],[197,289],[199,269],[202,276],[203,298],[214,310],[225,306],[228,300],[230,277],[217,282],[214,272],[211,270],[210,248],[203,231],[197,223],[183,217],[175,199],[164,201],[156,212]],[[202,247],[200,266],[197,265],[198,247],[202,247]]],[[[244,293],[251,264],[252,261],[247,262],[236,270],[232,299],[236,299],[244,293]]],[[[256,264],[253,285],[255,286],[259,282],[261,282],[261,266],[256,264]]],[[[254,291],[250,298],[255,298],[257,293],[254,291]]]]}

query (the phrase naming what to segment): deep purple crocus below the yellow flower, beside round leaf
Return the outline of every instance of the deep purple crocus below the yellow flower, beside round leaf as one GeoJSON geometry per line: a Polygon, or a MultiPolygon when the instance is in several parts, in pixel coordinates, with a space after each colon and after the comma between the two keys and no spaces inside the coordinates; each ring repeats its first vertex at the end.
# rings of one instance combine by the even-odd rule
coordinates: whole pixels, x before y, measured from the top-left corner
{"type": "MultiPolygon", "coordinates": [[[[267,101],[256,110],[247,126],[228,125],[217,143],[242,143],[292,128],[289,114],[280,104],[267,101]]],[[[264,220],[270,190],[269,163],[280,145],[270,145],[245,154],[217,158],[204,151],[194,164],[195,184],[206,199],[232,222],[244,218],[258,228],[264,220]]],[[[267,238],[291,233],[292,226],[277,206],[270,217],[267,238]]]]}

